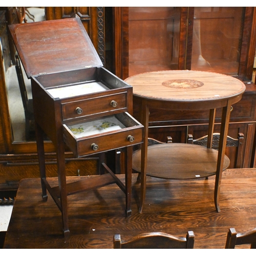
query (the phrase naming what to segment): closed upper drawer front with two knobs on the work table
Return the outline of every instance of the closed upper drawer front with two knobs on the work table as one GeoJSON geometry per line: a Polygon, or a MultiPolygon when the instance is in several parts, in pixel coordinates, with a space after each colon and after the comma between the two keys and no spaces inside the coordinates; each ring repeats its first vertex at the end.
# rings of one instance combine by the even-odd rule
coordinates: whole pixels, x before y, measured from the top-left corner
{"type": "Polygon", "coordinates": [[[115,113],[120,109],[127,110],[126,92],[62,103],[62,117],[67,120],[97,113],[115,113]]]}

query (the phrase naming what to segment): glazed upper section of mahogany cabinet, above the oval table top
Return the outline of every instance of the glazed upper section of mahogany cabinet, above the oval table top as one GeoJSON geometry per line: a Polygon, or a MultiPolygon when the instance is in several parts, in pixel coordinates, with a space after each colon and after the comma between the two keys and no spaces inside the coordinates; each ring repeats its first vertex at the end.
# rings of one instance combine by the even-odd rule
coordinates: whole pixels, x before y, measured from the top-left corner
{"type": "Polygon", "coordinates": [[[250,80],[254,12],[253,7],[115,7],[116,75],[188,69],[250,80]]]}

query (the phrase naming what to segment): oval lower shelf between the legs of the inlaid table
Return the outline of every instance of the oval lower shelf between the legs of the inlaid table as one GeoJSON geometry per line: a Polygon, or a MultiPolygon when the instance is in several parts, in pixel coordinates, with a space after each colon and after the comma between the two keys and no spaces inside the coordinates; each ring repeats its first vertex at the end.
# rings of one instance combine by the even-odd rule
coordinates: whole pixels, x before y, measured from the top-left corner
{"type": "MultiPolygon", "coordinates": [[[[216,175],[218,151],[200,145],[166,143],[148,146],[146,175],[163,179],[198,179],[216,175]]],[[[225,155],[223,170],[229,166],[225,155]]],[[[141,171],[141,150],[133,154],[133,169],[141,171]]]]}

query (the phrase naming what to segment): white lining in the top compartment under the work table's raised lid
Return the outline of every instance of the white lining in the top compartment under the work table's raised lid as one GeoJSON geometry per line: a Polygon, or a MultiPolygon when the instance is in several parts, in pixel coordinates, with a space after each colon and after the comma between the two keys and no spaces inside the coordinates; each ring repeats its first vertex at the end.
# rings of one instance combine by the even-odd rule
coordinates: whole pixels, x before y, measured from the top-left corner
{"type": "Polygon", "coordinates": [[[54,98],[69,98],[74,96],[80,96],[89,93],[97,93],[110,90],[108,87],[104,86],[101,82],[89,82],[76,84],[74,86],[59,87],[54,89],[48,89],[48,93],[54,98]]]}

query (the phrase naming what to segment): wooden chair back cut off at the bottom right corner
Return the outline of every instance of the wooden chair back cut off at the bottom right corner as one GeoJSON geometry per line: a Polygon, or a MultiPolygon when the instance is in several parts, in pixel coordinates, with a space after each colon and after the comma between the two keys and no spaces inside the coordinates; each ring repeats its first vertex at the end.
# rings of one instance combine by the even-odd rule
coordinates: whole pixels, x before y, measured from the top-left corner
{"type": "Polygon", "coordinates": [[[256,249],[256,228],[244,233],[237,233],[236,229],[229,228],[225,249],[234,249],[241,244],[250,244],[251,249],[256,249]]]}

